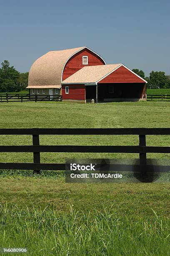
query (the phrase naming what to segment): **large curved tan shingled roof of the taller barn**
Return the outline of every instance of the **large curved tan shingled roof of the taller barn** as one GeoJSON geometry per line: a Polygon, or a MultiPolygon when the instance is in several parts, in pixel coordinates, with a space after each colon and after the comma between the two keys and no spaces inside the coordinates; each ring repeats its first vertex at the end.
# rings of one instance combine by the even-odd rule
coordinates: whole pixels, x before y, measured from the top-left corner
{"type": "Polygon", "coordinates": [[[27,88],[60,88],[65,63],[84,48],[86,47],[49,51],[38,58],[30,69],[27,88]]]}

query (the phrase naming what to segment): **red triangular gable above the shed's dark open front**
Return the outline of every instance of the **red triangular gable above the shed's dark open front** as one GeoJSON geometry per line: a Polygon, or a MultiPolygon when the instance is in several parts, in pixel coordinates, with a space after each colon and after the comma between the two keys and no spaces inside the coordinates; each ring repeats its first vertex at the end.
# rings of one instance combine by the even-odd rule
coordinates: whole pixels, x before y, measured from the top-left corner
{"type": "Polygon", "coordinates": [[[99,83],[143,83],[144,81],[121,66],[110,75],[102,79],[99,83]]]}

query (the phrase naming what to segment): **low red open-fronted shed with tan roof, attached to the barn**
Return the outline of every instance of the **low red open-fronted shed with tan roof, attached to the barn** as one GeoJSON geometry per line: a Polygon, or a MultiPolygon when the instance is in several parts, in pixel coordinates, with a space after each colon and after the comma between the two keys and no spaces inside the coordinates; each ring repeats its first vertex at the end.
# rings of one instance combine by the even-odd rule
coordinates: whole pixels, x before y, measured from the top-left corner
{"type": "Polygon", "coordinates": [[[83,67],[62,82],[62,100],[89,102],[146,100],[145,79],[123,64],[83,67]]]}

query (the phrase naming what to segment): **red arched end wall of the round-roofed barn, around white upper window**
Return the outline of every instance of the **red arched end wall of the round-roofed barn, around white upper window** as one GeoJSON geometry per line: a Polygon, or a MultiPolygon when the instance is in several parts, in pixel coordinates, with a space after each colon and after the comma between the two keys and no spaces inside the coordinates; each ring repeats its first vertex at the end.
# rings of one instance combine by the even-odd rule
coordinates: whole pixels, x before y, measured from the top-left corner
{"type": "Polygon", "coordinates": [[[105,65],[105,63],[97,54],[93,53],[88,49],[83,49],[67,61],[67,64],[65,65],[62,74],[62,81],[65,80],[67,77],[70,77],[79,69],[82,69],[82,67],[95,65],[105,65]],[[88,56],[88,65],[82,64],[82,56],[88,56]]]}

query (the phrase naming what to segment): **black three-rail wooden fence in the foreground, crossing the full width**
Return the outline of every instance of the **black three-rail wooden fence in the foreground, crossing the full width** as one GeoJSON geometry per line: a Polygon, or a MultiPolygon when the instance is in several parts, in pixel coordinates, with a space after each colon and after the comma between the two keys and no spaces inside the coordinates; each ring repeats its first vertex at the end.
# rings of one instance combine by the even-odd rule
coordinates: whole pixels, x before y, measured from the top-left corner
{"type": "MultiPolygon", "coordinates": [[[[0,129],[0,135],[31,135],[31,146],[0,146],[0,152],[32,152],[33,163],[0,163],[0,169],[65,170],[65,164],[40,163],[40,152],[138,153],[145,166],[147,153],[170,153],[170,147],[146,146],[146,135],[170,135],[170,128],[32,128],[0,129]],[[138,146],[43,146],[39,135],[138,135],[138,146]]],[[[161,166],[164,170],[166,166],[161,166]]],[[[166,169],[167,170],[167,169],[166,169]]]]}

